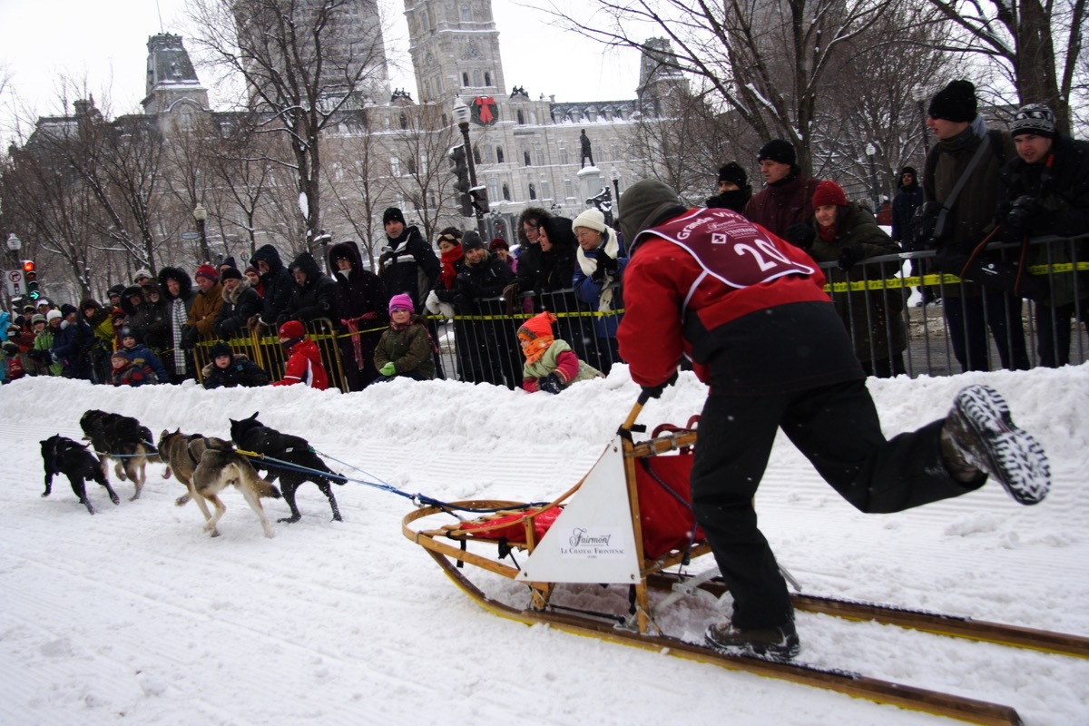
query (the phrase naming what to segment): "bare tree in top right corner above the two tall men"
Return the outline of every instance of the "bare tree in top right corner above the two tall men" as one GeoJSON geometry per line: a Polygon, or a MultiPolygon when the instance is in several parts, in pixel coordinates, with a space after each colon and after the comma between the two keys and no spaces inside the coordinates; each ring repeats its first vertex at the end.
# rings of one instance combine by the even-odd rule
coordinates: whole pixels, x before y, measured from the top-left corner
{"type": "Polygon", "coordinates": [[[1017,102],[1047,103],[1070,131],[1072,95],[1084,94],[1087,0],[928,0],[962,32],[943,49],[982,57],[1016,89],[1017,102]]]}

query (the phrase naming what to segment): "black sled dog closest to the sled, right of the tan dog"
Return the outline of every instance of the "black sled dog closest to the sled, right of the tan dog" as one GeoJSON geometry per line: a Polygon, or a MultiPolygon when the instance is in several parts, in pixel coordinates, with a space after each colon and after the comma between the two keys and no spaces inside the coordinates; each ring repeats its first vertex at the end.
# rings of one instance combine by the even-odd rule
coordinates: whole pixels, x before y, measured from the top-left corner
{"type": "MultiPolygon", "coordinates": [[[[258,411],[259,413],[259,411],[258,411]]],[[[294,466],[325,471],[329,476],[325,477],[309,471],[295,471],[281,467],[274,462],[264,464],[261,459],[254,459],[250,464],[255,468],[268,470],[268,480],[276,481],[280,478],[280,487],[283,490],[283,500],[291,507],[291,517],[279,519],[278,521],[298,521],[302,515],[295,506],[295,490],[304,481],[313,481],[321,490],[321,493],[329,500],[329,506],[333,510],[333,521],[342,521],[340,508],[337,506],[337,497],[330,483],[344,483],[344,477],[337,473],[321,460],[321,458],[310,450],[310,444],[306,439],[293,436],[287,433],[280,433],[276,429],[270,429],[257,420],[255,413],[249,418],[241,421],[231,421],[231,439],[235,445],[244,452],[254,452],[264,456],[270,456],[281,462],[286,462],[294,466]]]]}

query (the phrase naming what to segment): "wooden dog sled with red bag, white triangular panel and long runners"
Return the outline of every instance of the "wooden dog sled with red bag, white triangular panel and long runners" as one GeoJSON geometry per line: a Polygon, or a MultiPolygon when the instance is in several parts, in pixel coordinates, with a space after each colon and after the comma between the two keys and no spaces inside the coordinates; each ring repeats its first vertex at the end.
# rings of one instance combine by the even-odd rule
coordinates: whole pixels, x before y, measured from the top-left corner
{"type": "MultiPolygon", "coordinates": [[[[683,624],[677,627],[673,611],[687,617],[703,601],[717,608],[724,594],[722,583],[711,577],[717,570],[692,577],[677,568],[710,553],[689,505],[697,426],[695,420],[680,428],[666,424],[637,442],[634,434],[644,428],[635,420],[644,403],[640,397],[590,471],[556,500],[432,501],[404,517],[404,536],[425,547],[469,596],[517,622],[547,624],[970,723],[1021,723],[1017,712],[1005,705],[806,663],[726,655],[690,642],[692,635],[684,635],[683,624]],[[464,518],[466,513],[472,518],[464,518]],[[468,570],[473,576],[466,575],[466,564],[475,568],[468,570]],[[666,571],[671,568],[676,571],[666,571]],[[624,587],[602,587],[607,585],[624,587]],[[682,599],[685,602],[678,606],[682,599]]],[[[713,562],[700,569],[707,567],[713,568],[713,562]]],[[[1089,657],[1089,639],[1079,636],[970,624],[967,618],[874,604],[848,607],[835,599],[795,595],[794,600],[802,612],[1089,657]]]]}

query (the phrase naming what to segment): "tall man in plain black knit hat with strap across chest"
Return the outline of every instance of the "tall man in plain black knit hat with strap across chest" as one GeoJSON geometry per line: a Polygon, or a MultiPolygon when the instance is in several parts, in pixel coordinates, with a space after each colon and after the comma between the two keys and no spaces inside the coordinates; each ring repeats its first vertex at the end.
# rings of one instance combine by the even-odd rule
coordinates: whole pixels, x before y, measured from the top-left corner
{"type": "Polygon", "coordinates": [[[964,371],[990,370],[990,328],[1002,367],[1028,369],[1020,296],[979,284],[990,284],[1000,273],[1015,280],[1018,288],[1036,282],[1018,275],[999,256],[978,249],[994,230],[1000,172],[1003,162],[1014,157],[1013,140],[1005,132],[988,131],[977,112],[976,87],[967,81],[953,81],[934,95],[927,109],[927,127],[938,143],[927,155],[923,195],[949,211],[940,238],[926,244],[938,250],[933,264],[939,271],[963,279],[941,292],[953,354],[964,371]]]}

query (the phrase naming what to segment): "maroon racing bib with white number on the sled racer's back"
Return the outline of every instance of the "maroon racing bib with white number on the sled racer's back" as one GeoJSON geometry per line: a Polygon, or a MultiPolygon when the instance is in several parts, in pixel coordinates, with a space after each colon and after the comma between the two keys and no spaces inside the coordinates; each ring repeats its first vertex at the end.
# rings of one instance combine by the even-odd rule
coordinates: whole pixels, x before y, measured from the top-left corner
{"type": "MultiPolygon", "coordinates": [[[[770,282],[787,274],[811,275],[817,269],[792,260],[788,243],[729,209],[693,209],[636,236],[652,234],[681,247],[703,270],[731,287],[770,282]]],[[[633,245],[634,247],[634,245],[633,245]]],[[[695,290],[699,280],[693,285],[695,290]]]]}

